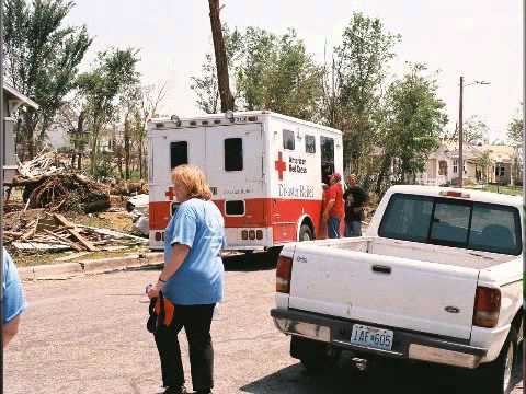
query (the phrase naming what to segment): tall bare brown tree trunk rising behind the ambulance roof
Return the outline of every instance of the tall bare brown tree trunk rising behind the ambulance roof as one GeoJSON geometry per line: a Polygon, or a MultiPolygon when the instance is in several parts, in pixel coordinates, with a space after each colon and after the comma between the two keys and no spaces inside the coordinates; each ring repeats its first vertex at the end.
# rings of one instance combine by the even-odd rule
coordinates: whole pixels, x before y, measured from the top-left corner
{"type": "Polygon", "coordinates": [[[221,20],[219,18],[219,0],[208,0],[210,7],[211,38],[214,40],[214,53],[216,55],[217,81],[219,95],[221,96],[221,112],[233,111],[233,96],[230,92],[228,77],[228,59],[222,38],[221,20]]]}

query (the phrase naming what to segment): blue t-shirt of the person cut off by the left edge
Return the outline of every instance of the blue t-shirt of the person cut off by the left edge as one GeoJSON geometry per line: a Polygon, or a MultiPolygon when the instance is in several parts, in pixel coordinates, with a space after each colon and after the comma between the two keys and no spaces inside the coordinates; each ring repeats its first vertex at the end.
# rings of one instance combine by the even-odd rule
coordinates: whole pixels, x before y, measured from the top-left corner
{"type": "Polygon", "coordinates": [[[19,271],[3,248],[3,324],[11,322],[25,310],[24,291],[19,279],[19,271]]]}

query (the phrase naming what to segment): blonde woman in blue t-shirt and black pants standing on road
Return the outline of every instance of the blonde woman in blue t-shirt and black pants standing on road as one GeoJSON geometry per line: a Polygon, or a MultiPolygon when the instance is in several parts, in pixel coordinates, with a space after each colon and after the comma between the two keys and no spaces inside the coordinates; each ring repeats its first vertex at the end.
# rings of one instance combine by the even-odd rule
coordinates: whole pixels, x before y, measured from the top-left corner
{"type": "Polygon", "coordinates": [[[164,393],[186,393],[178,341],[183,327],[188,340],[194,391],[211,393],[210,324],[214,308],[222,299],[225,222],[210,201],[211,192],[199,169],[180,165],[172,171],[172,182],[181,205],[165,231],[164,268],[148,292],[149,298],[155,298],[162,290],[164,298],[174,304],[171,324],[155,334],[164,393]]]}

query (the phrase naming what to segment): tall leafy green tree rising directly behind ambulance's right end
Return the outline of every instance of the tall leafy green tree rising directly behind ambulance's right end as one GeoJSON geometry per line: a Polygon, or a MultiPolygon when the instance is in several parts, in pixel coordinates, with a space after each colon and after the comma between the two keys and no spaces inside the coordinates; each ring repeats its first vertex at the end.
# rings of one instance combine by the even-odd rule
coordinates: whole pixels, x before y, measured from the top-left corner
{"type": "Polygon", "coordinates": [[[325,121],[344,132],[343,162],[355,173],[367,172],[376,140],[375,119],[381,112],[381,89],[399,35],[385,32],[380,20],[356,12],[334,49],[332,89],[325,89],[325,121]],[[335,107],[334,107],[335,106],[335,107]]]}

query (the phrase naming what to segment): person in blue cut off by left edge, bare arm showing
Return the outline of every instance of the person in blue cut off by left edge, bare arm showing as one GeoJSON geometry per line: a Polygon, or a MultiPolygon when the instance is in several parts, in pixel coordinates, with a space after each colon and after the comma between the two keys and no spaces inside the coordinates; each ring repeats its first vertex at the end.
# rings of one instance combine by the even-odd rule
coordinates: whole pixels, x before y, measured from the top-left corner
{"type": "Polygon", "coordinates": [[[11,339],[18,334],[20,325],[20,316],[26,308],[24,291],[19,279],[19,273],[13,259],[8,251],[3,248],[3,348],[5,348],[11,339]]]}

